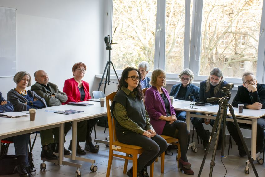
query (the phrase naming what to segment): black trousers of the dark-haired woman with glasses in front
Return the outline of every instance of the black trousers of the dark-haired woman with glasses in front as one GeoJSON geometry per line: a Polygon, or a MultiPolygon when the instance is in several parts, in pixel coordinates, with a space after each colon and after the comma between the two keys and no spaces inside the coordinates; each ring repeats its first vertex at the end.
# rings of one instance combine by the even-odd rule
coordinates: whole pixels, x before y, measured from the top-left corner
{"type": "Polygon", "coordinates": [[[137,173],[139,173],[144,166],[150,166],[156,158],[167,149],[166,140],[159,135],[148,138],[145,135],[135,132],[117,132],[117,139],[121,143],[140,146],[144,149],[144,152],[138,158],[137,173]]]}

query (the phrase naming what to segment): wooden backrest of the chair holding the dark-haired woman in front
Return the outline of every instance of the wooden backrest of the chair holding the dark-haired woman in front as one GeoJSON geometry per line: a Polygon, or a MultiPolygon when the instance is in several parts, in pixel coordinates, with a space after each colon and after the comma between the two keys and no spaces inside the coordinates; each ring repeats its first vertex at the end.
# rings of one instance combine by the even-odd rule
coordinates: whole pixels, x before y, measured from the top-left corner
{"type": "Polygon", "coordinates": [[[106,96],[106,106],[107,106],[107,116],[108,116],[108,130],[109,130],[109,145],[112,147],[113,138],[114,141],[117,141],[116,138],[116,131],[115,131],[115,120],[112,118],[111,111],[110,111],[110,103],[109,101],[113,101],[117,91],[112,92],[106,96]]]}

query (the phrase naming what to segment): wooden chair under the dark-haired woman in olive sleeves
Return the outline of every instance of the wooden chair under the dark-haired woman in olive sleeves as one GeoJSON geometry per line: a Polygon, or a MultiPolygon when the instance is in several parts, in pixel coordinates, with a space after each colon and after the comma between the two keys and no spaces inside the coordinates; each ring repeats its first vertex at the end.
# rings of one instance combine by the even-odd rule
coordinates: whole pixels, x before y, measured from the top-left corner
{"type": "MultiPolygon", "coordinates": [[[[108,169],[106,177],[110,175],[110,168],[112,164],[113,157],[119,157],[125,159],[123,173],[127,172],[127,165],[128,160],[132,160],[133,166],[133,177],[137,175],[137,160],[138,154],[141,154],[144,149],[140,146],[134,145],[127,145],[120,143],[116,138],[116,131],[115,131],[115,120],[112,118],[111,111],[110,111],[110,102],[113,101],[114,96],[117,92],[110,93],[106,96],[106,106],[107,106],[107,116],[108,116],[108,129],[109,129],[109,159],[108,159],[108,169]],[[113,151],[123,152],[126,153],[126,156],[120,154],[114,154],[113,151]],[[133,157],[129,157],[129,154],[132,154],[133,157]]],[[[150,165],[150,177],[154,176],[154,163],[150,165]]]]}

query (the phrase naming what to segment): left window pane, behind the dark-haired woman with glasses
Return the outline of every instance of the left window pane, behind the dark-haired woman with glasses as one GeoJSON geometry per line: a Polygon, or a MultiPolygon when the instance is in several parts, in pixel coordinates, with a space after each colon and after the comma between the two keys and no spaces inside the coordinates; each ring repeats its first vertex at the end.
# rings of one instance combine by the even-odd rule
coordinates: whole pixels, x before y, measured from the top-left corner
{"type": "Polygon", "coordinates": [[[111,60],[115,69],[138,67],[141,61],[154,68],[157,0],[113,0],[111,60]]]}

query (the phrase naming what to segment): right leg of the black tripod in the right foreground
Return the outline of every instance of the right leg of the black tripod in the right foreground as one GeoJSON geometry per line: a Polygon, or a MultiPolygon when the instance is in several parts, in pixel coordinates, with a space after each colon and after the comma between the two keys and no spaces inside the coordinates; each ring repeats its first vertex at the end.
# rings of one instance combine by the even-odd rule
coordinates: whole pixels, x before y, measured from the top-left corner
{"type": "Polygon", "coordinates": [[[240,140],[241,140],[241,142],[242,142],[242,144],[243,144],[243,147],[244,147],[244,149],[245,149],[245,152],[246,152],[246,154],[247,154],[247,156],[248,156],[248,161],[250,162],[250,164],[251,164],[251,166],[252,166],[252,168],[253,168],[253,171],[254,171],[255,176],[258,177],[257,170],[256,170],[256,168],[255,168],[255,166],[254,166],[254,164],[253,164],[254,159],[253,159],[253,157],[251,157],[251,155],[250,155],[250,153],[249,153],[249,151],[248,151],[248,147],[247,147],[246,142],[245,142],[245,140],[244,140],[244,138],[243,138],[243,135],[242,135],[242,132],[241,132],[241,130],[240,130],[240,127],[239,127],[238,121],[237,121],[236,116],[235,116],[235,114],[234,114],[233,107],[232,107],[232,105],[230,105],[230,104],[228,104],[228,107],[229,107],[229,111],[230,111],[230,113],[231,113],[231,115],[232,115],[232,117],[233,117],[234,124],[235,124],[235,126],[236,126],[237,131],[238,131],[238,134],[239,134],[240,140]]]}

